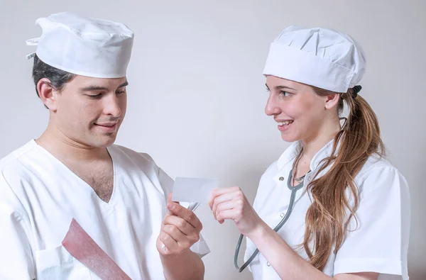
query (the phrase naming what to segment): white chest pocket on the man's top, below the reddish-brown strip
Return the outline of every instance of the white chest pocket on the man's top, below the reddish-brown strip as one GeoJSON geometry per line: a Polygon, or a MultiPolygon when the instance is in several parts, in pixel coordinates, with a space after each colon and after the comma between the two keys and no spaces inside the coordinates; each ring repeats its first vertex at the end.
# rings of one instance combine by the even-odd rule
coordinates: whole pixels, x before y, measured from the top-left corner
{"type": "Polygon", "coordinates": [[[35,252],[38,280],[99,279],[63,247],[35,252]]]}

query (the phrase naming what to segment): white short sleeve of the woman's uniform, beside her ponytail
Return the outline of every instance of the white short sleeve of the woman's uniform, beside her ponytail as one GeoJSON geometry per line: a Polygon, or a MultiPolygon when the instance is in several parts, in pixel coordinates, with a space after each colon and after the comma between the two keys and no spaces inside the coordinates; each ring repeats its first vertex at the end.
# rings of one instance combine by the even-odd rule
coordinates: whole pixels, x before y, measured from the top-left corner
{"type": "Polygon", "coordinates": [[[379,279],[408,279],[407,181],[394,167],[375,167],[359,189],[358,224],[351,221],[334,260],[334,275],[371,271],[381,274],[379,279]]]}

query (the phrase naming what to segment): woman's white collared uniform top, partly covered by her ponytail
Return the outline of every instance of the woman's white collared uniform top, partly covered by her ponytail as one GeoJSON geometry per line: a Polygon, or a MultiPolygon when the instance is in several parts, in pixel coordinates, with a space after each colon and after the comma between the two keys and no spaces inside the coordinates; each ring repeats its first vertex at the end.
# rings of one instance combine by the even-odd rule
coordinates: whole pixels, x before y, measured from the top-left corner
{"type": "MultiPolygon", "coordinates": [[[[305,215],[312,203],[306,186],[319,169],[321,160],[332,154],[333,142],[325,145],[312,158],[311,172],[306,175],[303,188],[297,191],[293,213],[283,228],[278,230],[280,237],[293,249],[303,242],[305,215]]],[[[300,143],[294,142],[261,177],[253,208],[271,228],[275,228],[288,211],[291,190],[287,186],[287,180],[300,149],[300,143]]],[[[354,231],[347,233],[337,254],[330,254],[324,273],[334,276],[372,271],[379,273],[378,279],[381,280],[407,280],[410,235],[410,195],[407,182],[391,163],[378,157],[368,159],[355,181],[360,191],[359,208],[356,211],[358,228],[352,220],[349,229],[354,231]]],[[[249,259],[254,250],[256,246],[247,238],[244,261],[249,259]]],[[[297,252],[308,259],[305,250],[297,252]]],[[[280,279],[261,253],[253,259],[249,269],[254,280],[280,279]]]]}

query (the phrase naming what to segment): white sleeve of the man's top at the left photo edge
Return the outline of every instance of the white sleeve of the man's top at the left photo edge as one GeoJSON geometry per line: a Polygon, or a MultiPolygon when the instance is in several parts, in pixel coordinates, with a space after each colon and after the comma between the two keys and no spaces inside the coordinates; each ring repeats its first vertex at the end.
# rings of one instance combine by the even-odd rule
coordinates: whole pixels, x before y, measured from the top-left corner
{"type": "Polygon", "coordinates": [[[0,174],[0,279],[35,279],[26,232],[29,221],[23,218],[22,210],[18,198],[0,174]]]}

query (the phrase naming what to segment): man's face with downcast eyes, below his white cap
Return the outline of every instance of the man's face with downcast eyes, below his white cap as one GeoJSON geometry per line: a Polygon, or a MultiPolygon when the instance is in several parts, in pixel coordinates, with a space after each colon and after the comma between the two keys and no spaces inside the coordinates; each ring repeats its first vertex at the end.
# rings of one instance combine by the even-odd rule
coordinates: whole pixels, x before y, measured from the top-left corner
{"type": "Polygon", "coordinates": [[[98,79],[77,75],[62,91],[54,92],[50,121],[77,145],[113,144],[126,114],[126,77],[98,79]]]}

